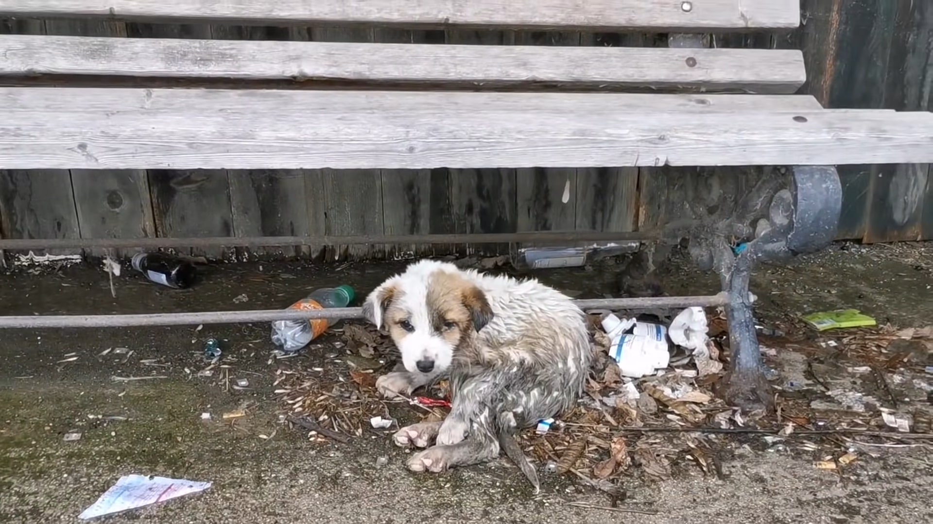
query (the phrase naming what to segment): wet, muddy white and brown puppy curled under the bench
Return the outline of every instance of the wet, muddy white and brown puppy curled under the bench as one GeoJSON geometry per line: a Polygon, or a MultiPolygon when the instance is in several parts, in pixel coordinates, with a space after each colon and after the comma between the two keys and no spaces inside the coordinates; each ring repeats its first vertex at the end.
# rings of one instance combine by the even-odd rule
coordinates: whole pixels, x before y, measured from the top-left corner
{"type": "Polygon", "coordinates": [[[383,395],[450,379],[447,419],[394,435],[399,446],[426,448],[411,456],[409,469],[487,462],[502,449],[537,488],[514,435],[573,407],[583,392],[592,361],[583,311],[536,280],[433,260],[411,264],[377,287],[363,311],[388,330],[402,357],[377,380],[383,395]]]}

